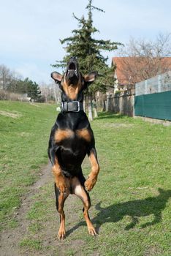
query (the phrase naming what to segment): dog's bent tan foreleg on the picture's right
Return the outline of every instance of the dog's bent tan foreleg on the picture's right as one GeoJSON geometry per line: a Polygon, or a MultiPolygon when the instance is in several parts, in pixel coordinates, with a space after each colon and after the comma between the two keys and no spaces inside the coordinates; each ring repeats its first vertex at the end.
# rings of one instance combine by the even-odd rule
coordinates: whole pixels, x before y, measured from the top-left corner
{"type": "Polygon", "coordinates": [[[94,153],[91,152],[89,159],[91,162],[91,173],[89,174],[88,179],[85,182],[85,187],[87,191],[91,191],[91,189],[93,189],[99,173],[99,163],[97,162],[94,153]]]}

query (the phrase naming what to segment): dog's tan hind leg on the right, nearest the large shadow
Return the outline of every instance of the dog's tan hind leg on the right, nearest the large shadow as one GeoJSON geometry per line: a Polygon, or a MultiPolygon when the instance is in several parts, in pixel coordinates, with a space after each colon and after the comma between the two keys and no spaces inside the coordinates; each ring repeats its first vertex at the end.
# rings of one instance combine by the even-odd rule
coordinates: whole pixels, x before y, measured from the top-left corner
{"type": "Polygon", "coordinates": [[[94,225],[91,223],[88,210],[91,207],[91,200],[90,196],[88,195],[88,192],[86,192],[86,189],[82,185],[82,181],[80,181],[78,178],[72,178],[72,192],[77,195],[82,201],[83,201],[83,215],[86,219],[86,224],[88,227],[88,233],[91,236],[96,236],[96,230],[94,228],[94,225]]]}

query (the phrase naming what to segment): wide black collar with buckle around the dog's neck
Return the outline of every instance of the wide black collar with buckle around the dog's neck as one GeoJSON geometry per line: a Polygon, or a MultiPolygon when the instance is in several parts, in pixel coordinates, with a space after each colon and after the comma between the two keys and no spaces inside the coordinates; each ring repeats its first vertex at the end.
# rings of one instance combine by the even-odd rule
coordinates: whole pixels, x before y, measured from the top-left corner
{"type": "Polygon", "coordinates": [[[80,112],[83,111],[83,102],[73,100],[72,102],[61,102],[62,112],[80,112]]]}

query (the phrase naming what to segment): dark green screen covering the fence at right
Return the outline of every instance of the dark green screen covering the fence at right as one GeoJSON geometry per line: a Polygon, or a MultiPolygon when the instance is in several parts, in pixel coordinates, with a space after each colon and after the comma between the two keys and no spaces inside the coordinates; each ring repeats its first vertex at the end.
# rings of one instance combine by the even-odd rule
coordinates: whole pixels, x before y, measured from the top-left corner
{"type": "Polygon", "coordinates": [[[134,115],[171,121],[171,91],[135,96],[134,115]]]}

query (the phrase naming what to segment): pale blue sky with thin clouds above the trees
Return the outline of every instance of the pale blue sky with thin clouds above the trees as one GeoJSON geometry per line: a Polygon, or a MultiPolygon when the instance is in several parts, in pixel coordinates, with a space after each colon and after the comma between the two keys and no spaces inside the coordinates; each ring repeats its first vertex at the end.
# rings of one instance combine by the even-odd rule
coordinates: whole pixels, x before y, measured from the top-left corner
{"type": "MultiPolygon", "coordinates": [[[[77,20],[86,15],[88,0],[1,0],[0,64],[23,78],[50,82],[50,64],[65,54],[59,38],[71,35],[77,20]]],[[[97,38],[126,43],[130,37],[155,39],[171,31],[170,0],[94,0],[97,38]]],[[[110,53],[110,61],[116,53],[110,53]]],[[[109,61],[109,63],[110,63],[109,61]]]]}

